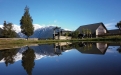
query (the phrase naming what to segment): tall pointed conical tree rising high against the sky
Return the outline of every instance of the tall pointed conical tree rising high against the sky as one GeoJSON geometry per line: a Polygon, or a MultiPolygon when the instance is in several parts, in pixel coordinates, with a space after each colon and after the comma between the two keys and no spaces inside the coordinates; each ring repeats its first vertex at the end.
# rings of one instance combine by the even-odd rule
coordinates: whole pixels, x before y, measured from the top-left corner
{"type": "Polygon", "coordinates": [[[31,36],[34,33],[33,20],[29,14],[29,8],[26,6],[24,9],[24,15],[20,20],[21,32],[27,36],[31,36]]]}

